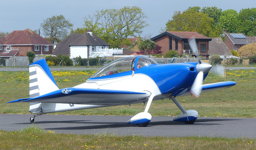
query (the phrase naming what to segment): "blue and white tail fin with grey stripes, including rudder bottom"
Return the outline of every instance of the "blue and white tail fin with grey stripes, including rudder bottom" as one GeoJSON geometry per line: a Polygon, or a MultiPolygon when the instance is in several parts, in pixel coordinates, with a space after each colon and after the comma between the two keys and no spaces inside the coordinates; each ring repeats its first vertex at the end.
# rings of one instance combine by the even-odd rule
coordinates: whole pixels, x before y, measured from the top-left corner
{"type": "MultiPolygon", "coordinates": [[[[45,61],[41,59],[29,65],[29,97],[38,97],[58,90],[58,86],[45,61]]],[[[30,113],[42,113],[41,103],[30,103],[30,113]]]]}

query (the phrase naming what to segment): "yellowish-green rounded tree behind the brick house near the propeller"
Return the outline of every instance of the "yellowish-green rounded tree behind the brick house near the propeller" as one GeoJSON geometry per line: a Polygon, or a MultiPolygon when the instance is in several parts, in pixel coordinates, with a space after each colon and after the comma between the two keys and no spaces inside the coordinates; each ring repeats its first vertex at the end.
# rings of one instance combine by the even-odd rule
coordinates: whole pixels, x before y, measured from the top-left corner
{"type": "Polygon", "coordinates": [[[214,19],[198,11],[198,8],[190,8],[184,12],[174,12],[172,20],[166,23],[166,31],[196,32],[208,37],[220,35],[217,26],[214,26],[214,19]],[[196,10],[196,11],[195,11],[196,10]]]}

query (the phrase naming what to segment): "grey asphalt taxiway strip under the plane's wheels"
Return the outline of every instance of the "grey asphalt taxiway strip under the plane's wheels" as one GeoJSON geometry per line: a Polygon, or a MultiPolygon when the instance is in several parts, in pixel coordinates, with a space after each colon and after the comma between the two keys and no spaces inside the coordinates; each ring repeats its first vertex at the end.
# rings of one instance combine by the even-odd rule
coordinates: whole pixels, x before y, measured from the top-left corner
{"type": "Polygon", "coordinates": [[[152,116],[147,127],[126,124],[132,116],[42,115],[31,123],[32,114],[0,114],[0,130],[18,131],[30,126],[66,134],[117,134],[142,136],[207,136],[256,138],[256,118],[199,117],[194,124],[174,122],[174,117],[152,116]]]}

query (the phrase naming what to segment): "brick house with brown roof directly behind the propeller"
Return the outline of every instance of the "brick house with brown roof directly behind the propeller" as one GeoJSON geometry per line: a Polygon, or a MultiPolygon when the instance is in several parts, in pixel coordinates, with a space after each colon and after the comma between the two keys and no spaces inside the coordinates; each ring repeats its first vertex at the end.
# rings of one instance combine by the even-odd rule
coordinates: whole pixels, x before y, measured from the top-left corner
{"type": "Polygon", "coordinates": [[[193,55],[188,44],[188,39],[193,37],[196,39],[199,55],[208,57],[209,41],[211,38],[199,34],[198,32],[170,32],[166,31],[158,36],[151,38],[156,44],[162,46],[163,55],[169,50],[175,50],[180,55],[183,53],[193,55]]]}

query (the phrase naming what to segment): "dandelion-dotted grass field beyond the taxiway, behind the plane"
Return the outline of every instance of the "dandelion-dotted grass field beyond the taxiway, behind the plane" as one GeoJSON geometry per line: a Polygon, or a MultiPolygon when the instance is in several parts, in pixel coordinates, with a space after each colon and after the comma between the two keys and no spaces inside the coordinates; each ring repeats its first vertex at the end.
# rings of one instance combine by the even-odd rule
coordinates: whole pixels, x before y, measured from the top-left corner
{"type": "MultiPolygon", "coordinates": [[[[58,87],[72,87],[84,83],[95,71],[53,71],[58,87]]],[[[208,117],[256,117],[256,70],[227,70],[227,81],[237,85],[202,93],[200,98],[177,97],[184,109],[194,109],[199,116],[208,117]]],[[[8,103],[8,101],[29,97],[28,72],[0,72],[0,113],[29,114],[28,103],[8,103]]],[[[204,84],[225,81],[224,77],[209,73],[204,84]]],[[[55,114],[77,115],[135,115],[142,111],[143,104],[104,107],[55,114]]],[[[152,116],[177,116],[180,110],[169,99],[153,101],[149,113],[152,116]],[[161,109],[159,109],[161,108],[161,109]]]]}

